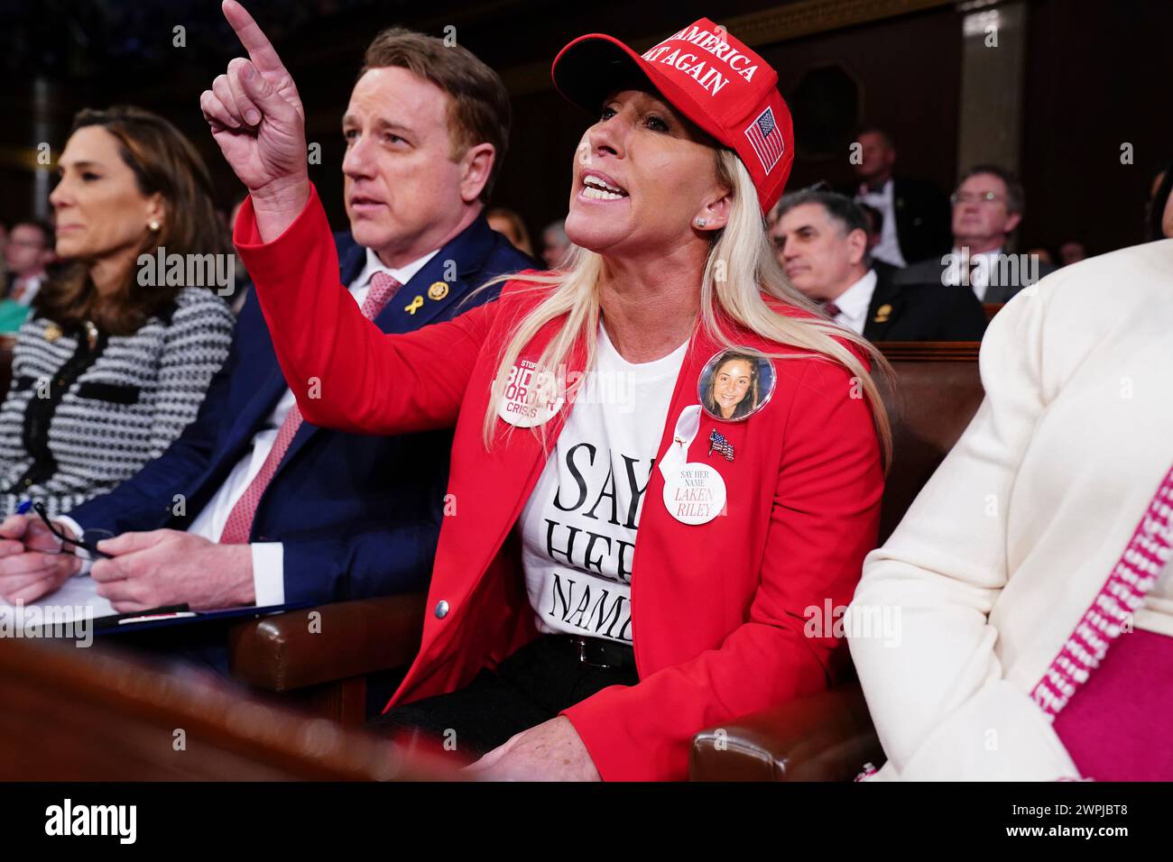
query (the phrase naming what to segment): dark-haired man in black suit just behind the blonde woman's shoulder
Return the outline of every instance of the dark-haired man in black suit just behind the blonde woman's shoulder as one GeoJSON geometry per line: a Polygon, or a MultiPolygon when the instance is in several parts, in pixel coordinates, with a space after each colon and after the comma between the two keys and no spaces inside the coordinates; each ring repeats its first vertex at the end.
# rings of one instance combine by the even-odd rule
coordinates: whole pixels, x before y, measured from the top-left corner
{"type": "Polygon", "coordinates": [[[843,195],[787,195],[771,237],[791,283],[869,341],[979,341],[985,332],[970,291],[880,278],[868,258],[867,217],[843,195]]]}

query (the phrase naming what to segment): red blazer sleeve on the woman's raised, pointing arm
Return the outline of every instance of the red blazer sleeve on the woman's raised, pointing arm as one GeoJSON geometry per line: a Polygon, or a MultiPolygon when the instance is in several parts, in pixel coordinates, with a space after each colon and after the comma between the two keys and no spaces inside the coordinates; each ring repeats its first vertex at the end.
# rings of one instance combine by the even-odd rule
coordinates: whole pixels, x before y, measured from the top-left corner
{"type": "Polygon", "coordinates": [[[496,303],[415,332],[385,334],[339,283],[338,251],[317,189],[271,243],[260,242],[248,198],[232,239],[307,422],[366,434],[455,426],[496,303]]]}

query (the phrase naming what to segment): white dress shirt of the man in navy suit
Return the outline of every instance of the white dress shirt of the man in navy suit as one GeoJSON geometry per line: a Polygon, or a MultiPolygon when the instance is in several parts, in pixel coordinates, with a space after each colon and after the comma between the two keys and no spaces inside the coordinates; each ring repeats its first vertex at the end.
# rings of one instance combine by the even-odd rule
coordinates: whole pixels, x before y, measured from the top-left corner
{"type": "MultiPolygon", "coordinates": [[[[392,269],[385,266],[379,260],[379,257],[371,249],[367,249],[366,265],[359,272],[358,278],[350,284],[351,296],[361,306],[371,287],[371,278],[377,272],[386,272],[396,281],[407,284],[416,272],[423,269],[425,264],[435,257],[436,251],[425,254],[406,266],[392,269]]],[[[224,480],[224,484],[219,487],[215,496],[208,501],[208,505],[191,522],[188,532],[195,536],[203,536],[212,542],[219,541],[221,534],[224,531],[224,524],[228,523],[229,514],[237,501],[244,496],[244,491],[252,480],[260,473],[265,459],[269,457],[269,453],[277,441],[277,433],[285,421],[285,416],[289,415],[289,412],[293,409],[296,403],[297,399],[293,392],[285,389],[285,393],[277,402],[277,407],[269,414],[265,426],[252,436],[252,448],[232,468],[228,478],[224,480]]],[[[82,530],[76,521],[66,516],[61,516],[59,520],[68,524],[75,534],[81,535],[82,530]]],[[[285,604],[284,545],[280,542],[253,542],[251,547],[252,584],[257,593],[257,608],[285,604]]],[[[89,566],[90,563],[88,561],[84,562],[80,573],[88,572],[89,566]]]]}

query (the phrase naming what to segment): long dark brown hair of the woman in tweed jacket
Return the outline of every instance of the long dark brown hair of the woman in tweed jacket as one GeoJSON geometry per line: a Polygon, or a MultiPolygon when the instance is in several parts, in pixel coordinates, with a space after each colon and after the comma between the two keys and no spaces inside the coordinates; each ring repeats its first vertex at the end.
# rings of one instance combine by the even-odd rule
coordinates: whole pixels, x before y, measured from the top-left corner
{"type": "MultiPolygon", "coordinates": [[[[228,236],[216,217],[208,167],[178,129],[142,108],[118,106],[80,111],[69,134],[89,125],[101,125],[117,138],[118,155],[134,171],[140,192],[163,197],[160,230],[147,231],[136,259],[155,254],[160,246],[168,256],[229,251],[228,236]]],[[[111,335],[129,335],[170,306],[182,290],[163,284],[162,278],[155,285],[140,285],[136,274],[137,267],[131,265],[116,291],[99,296],[79,260],[40,291],[33,304],[40,314],[67,328],[91,320],[111,335]]]]}

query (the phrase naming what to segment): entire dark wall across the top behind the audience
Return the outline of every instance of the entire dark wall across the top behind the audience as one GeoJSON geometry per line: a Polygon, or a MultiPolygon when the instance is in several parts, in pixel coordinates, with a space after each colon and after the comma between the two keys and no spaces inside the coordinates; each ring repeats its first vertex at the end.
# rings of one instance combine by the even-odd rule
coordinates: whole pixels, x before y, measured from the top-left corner
{"type": "MultiPolygon", "coordinates": [[[[2,4],[0,65],[9,84],[0,88],[0,218],[12,220],[30,209],[32,148],[47,141],[57,152],[76,109],[114,102],[157,110],[189,133],[209,161],[222,203],[231,204],[240,190],[198,111],[199,91],[237,50],[218,2],[2,4]],[[94,12],[99,8],[106,12],[94,12]],[[185,48],[171,45],[176,25],[187,27],[185,48]],[[34,97],[38,87],[41,99],[34,97]]],[[[272,33],[301,90],[308,140],[323,147],[323,164],[311,171],[335,226],[345,225],[338,124],[362,48],[393,23],[435,35],[450,25],[462,45],[502,73],[514,95],[511,150],[496,203],[520,211],[531,232],[564,213],[574,145],[591,122],[549,86],[557,49],[597,30],[643,48],[696,18],[714,15],[714,4],[692,0],[669,7],[613,0],[248,5],[272,33]]],[[[771,9],[809,15],[818,6],[814,0],[723,0],[717,20],[771,9]]],[[[1173,158],[1173,114],[1165,99],[1173,72],[1169,33],[1173,4],[1164,0],[1030,0],[1024,90],[1008,94],[1024,106],[1026,247],[1080,239],[1098,252],[1143,238],[1152,175],[1161,159],[1173,158]],[[1120,164],[1124,142],[1134,147],[1132,165],[1120,164]]],[[[799,143],[791,186],[848,181],[850,127],[867,121],[894,135],[902,172],[948,190],[967,167],[956,163],[961,43],[961,13],[938,5],[758,45],[779,69],[779,86],[795,110],[799,143]]]]}

